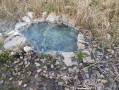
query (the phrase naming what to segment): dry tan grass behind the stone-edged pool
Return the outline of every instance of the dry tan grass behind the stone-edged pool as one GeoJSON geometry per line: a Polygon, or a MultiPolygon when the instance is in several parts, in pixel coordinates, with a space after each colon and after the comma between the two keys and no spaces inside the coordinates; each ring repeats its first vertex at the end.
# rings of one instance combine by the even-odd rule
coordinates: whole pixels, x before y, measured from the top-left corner
{"type": "Polygon", "coordinates": [[[103,43],[119,45],[119,0],[0,0],[0,3],[0,16],[18,20],[28,11],[65,13],[77,20],[77,26],[90,28],[103,43]],[[107,40],[106,34],[111,39],[107,40]]]}

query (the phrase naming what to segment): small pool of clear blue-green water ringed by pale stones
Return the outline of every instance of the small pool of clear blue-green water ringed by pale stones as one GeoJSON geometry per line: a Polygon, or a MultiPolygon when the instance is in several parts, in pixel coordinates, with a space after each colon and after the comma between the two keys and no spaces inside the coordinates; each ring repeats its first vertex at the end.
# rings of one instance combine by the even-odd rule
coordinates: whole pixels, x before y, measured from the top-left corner
{"type": "Polygon", "coordinates": [[[77,51],[78,30],[64,24],[32,23],[21,32],[35,52],[77,51]]]}

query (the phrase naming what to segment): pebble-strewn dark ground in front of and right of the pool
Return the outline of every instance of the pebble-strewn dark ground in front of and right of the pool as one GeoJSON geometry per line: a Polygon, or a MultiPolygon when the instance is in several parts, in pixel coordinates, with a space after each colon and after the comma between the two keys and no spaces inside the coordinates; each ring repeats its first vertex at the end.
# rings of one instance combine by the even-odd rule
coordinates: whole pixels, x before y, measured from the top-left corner
{"type": "Polygon", "coordinates": [[[0,90],[119,90],[119,47],[109,49],[98,44],[89,30],[82,33],[93,63],[85,62],[81,54],[72,57],[76,64],[68,66],[62,55],[4,51],[0,90]]]}

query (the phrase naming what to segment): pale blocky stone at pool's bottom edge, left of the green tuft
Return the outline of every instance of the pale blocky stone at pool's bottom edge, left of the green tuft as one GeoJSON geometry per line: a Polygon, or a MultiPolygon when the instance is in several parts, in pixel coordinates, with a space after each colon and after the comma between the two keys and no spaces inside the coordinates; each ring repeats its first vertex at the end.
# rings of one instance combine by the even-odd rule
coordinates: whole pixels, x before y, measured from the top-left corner
{"type": "Polygon", "coordinates": [[[72,57],[75,57],[73,52],[62,52],[62,55],[64,56],[63,62],[67,66],[77,65],[77,62],[72,62],[72,57]]]}

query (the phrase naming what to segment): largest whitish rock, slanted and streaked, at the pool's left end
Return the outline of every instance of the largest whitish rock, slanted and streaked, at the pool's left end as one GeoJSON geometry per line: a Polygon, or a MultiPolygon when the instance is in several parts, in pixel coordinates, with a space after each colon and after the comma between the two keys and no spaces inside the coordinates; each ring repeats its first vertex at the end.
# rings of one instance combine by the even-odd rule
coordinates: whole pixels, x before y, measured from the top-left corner
{"type": "Polygon", "coordinates": [[[17,34],[10,35],[7,37],[4,41],[4,49],[6,50],[19,50],[20,48],[23,48],[27,44],[27,40],[25,37],[17,34]]]}

